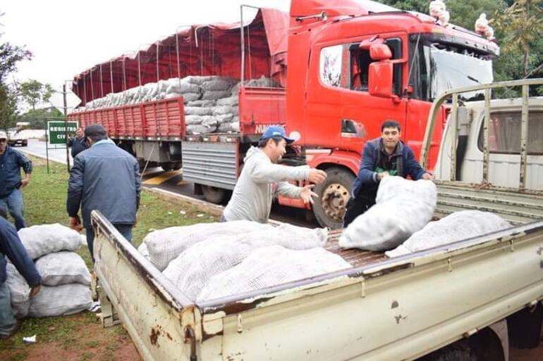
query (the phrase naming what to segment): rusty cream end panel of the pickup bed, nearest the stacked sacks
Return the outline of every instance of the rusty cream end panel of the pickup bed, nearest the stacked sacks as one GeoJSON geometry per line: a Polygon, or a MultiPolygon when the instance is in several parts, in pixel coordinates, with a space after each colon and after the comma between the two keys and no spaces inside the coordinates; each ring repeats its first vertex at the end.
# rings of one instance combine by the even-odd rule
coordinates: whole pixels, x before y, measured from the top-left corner
{"type": "Polygon", "coordinates": [[[91,217],[101,299],[109,300],[144,360],[189,360],[190,301],[101,213],[94,210],[91,217]]]}

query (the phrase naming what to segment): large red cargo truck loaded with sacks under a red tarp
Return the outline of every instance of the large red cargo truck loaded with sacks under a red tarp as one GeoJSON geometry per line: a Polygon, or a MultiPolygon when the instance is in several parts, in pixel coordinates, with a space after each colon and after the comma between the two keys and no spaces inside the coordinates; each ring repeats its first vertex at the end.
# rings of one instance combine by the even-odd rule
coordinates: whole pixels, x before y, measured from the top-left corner
{"type": "MultiPolygon", "coordinates": [[[[102,123],[137,158],[166,169],[183,167],[183,179],[214,202],[233,189],[243,156],[262,130],[284,125],[300,139],[283,162],[327,172],[326,182],[315,187],[319,197],[312,211],[323,227],[338,228],[364,142],[379,136],[383,120],[401,123],[403,141],[419,157],[432,101],[446,89],[492,82],[492,58],[498,55],[494,42],[429,15],[373,1],[293,0],[290,14],[260,9],[243,27],[194,25],[145,51],[96,65],[73,82],[85,104],[171,77],[270,77],[279,87],[240,87],[239,133],[186,134],[182,98],[68,118],[83,126],[102,123]]],[[[431,167],[446,113],[443,106],[431,167]]],[[[307,208],[290,198],[279,203],[307,208]]]]}

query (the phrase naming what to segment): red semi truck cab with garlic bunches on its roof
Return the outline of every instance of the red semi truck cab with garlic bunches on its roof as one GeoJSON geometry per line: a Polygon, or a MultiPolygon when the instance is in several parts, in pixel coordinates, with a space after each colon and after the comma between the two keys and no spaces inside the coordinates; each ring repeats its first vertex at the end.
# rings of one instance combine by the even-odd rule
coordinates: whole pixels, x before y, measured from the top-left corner
{"type": "MultiPolygon", "coordinates": [[[[300,134],[307,164],[328,173],[315,187],[319,223],[341,226],[360,152],[384,120],[401,124],[402,140],[419,158],[432,101],[453,87],[492,82],[498,54],[494,42],[429,15],[372,1],[293,0],[286,128],[300,134]]],[[[439,129],[445,107],[441,114],[439,129]]],[[[436,132],[431,167],[440,140],[436,132]]]]}

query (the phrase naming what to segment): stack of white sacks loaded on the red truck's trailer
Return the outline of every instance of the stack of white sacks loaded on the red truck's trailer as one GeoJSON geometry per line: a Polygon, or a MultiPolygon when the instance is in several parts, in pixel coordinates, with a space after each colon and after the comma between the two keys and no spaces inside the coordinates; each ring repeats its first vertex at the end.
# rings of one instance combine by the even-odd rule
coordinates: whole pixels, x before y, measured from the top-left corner
{"type": "MultiPolygon", "coordinates": [[[[266,77],[245,82],[247,87],[272,87],[266,77]]],[[[231,77],[189,76],[151,82],[119,93],[94,99],[74,113],[183,96],[188,134],[238,133],[238,90],[240,82],[231,77]]]]}

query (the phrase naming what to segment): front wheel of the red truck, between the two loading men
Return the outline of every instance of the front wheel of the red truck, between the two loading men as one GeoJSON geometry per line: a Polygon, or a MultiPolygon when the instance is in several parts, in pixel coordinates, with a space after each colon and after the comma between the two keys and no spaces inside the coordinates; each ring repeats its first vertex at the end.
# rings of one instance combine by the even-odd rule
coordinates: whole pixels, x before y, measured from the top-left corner
{"type": "Polygon", "coordinates": [[[326,172],[327,179],[313,189],[318,194],[313,205],[313,213],[321,227],[338,229],[343,225],[343,215],[355,175],[338,167],[328,168],[326,172]]]}

